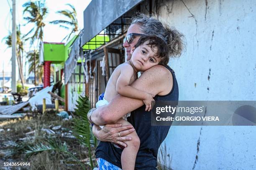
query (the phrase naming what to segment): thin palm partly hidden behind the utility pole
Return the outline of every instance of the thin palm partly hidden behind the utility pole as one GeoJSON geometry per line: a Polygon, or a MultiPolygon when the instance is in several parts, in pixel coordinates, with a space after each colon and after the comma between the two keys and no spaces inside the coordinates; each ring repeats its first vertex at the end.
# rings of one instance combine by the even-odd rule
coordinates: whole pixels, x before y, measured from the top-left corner
{"type": "MultiPolygon", "coordinates": [[[[9,33],[9,35],[7,37],[4,38],[5,39],[5,44],[8,45],[8,47],[12,47],[12,33],[9,33]]],[[[17,57],[17,62],[18,62],[18,67],[19,67],[19,74],[20,74],[20,80],[21,80],[21,84],[22,87],[24,89],[24,78],[23,78],[23,37],[21,37],[21,33],[20,33],[20,27],[17,27],[17,31],[16,31],[16,57],[17,57]]]]}

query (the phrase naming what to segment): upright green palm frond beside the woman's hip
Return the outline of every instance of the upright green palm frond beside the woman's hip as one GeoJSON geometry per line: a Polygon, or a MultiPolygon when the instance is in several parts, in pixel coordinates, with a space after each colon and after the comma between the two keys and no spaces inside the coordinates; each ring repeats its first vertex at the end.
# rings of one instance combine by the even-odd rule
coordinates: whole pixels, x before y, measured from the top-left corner
{"type": "Polygon", "coordinates": [[[91,109],[91,102],[87,96],[79,96],[76,104],[75,117],[73,119],[73,132],[74,136],[80,142],[80,144],[88,147],[90,165],[93,169],[91,145],[97,146],[97,140],[93,136],[90,128],[90,123],[87,119],[87,113],[91,109]]]}

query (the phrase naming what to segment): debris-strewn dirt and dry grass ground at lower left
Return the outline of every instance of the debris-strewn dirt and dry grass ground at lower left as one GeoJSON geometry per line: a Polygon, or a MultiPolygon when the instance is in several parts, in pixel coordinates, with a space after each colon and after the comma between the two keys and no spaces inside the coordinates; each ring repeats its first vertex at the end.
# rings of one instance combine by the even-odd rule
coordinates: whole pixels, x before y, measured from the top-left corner
{"type": "Polygon", "coordinates": [[[54,150],[40,152],[26,159],[26,150],[36,145],[49,145],[49,140],[61,144],[66,142],[67,150],[80,160],[86,169],[91,169],[87,147],[79,144],[72,134],[71,127],[72,119],[62,119],[55,111],[47,111],[44,115],[30,113],[22,119],[0,121],[0,169],[82,169],[70,155],[54,150]],[[29,162],[30,165],[4,166],[6,162],[29,162]]]}

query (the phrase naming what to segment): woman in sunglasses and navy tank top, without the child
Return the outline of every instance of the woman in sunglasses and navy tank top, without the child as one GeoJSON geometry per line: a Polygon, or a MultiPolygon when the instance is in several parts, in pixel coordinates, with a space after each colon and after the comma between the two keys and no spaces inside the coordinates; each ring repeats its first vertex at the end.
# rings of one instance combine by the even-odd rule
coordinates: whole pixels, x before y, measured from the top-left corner
{"type": "MultiPolygon", "coordinates": [[[[127,59],[131,59],[131,48],[136,45],[141,35],[158,36],[172,46],[169,56],[180,56],[183,48],[182,34],[177,30],[170,29],[156,18],[140,14],[132,18],[123,46],[127,52],[127,59]],[[171,32],[172,38],[166,37],[171,32]],[[168,41],[167,41],[168,40],[168,41]]],[[[157,65],[148,69],[131,85],[136,89],[147,91],[156,95],[155,101],[177,101],[179,89],[174,71],[168,66],[157,65]],[[161,75],[161,76],[159,76],[161,75]]],[[[145,111],[143,101],[124,96],[116,96],[108,105],[93,110],[90,120],[95,124],[93,134],[101,140],[95,155],[103,169],[120,169],[121,148],[111,144],[114,142],[126,146],[124,141],[129,140],[128,134],[133,132],[131,126],[117,127],[115,122],[123,115],[131,112],[128,121],[133,125],[141,145],[136,157],[135,169],[155,170],[157,166],[157,152],[169,132],[170,126],[151,126],[151,114],[145,111]],[[103,129],[97,125],[105,124],[103,129]]]]}

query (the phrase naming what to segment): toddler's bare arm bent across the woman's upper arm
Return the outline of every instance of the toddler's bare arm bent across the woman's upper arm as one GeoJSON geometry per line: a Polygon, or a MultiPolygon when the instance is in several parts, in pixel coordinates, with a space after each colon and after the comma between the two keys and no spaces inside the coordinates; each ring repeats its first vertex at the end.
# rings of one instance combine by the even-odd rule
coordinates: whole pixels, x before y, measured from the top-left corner
{"type": "Polygon", "coordinates": [[[123,65],[118,80],[116,82],[116,91],[122,96],[143,100],[143,102],[146,104],[145,110],[151,110],[151,101],[154,101],[154,95],[129,86],[132,76],[132,66],[128,64],[123,65]]]}

